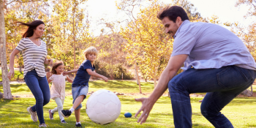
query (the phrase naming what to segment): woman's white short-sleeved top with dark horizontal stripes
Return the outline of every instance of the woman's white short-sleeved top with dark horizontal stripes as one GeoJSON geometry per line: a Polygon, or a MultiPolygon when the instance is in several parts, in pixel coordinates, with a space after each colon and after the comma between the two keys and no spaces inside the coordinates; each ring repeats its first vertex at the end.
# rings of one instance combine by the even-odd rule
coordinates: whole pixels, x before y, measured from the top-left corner
{"type": "Polygon", "coordinates": [[[45,58],[47,56],[46,43],[41,40],[41,45],[37,46],[32,42],[29,37],[20,40],[17,50],[22,52],[24,62],[24,72],[26,73],[35,69],[39,77],[45,77],[45,58]]]}

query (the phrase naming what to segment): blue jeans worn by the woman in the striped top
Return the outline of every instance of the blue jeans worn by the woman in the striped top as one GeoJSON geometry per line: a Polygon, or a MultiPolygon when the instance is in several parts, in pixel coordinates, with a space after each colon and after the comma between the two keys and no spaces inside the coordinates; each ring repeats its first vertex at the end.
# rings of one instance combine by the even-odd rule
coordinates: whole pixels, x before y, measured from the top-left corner
{"type": "Polygon", "coordinates": [[[46,77],[39,77],[35,69],[29,71],[25,75],[26,85],[36,99],[36,105],[31,107],[31,110],[37,111],[37,117],[40,124],[45,123],[44,112],[42,106],[50,101],[50,88],[46,77]]]}

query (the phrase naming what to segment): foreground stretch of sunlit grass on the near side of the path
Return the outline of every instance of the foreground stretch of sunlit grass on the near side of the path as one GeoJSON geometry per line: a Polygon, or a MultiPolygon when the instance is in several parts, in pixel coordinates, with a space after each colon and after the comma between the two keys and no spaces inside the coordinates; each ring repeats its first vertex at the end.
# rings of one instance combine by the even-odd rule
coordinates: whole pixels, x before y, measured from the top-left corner
{"type": "MultiPolygon", "coordinates": [[[[145,124],[138,124],[138,118],[134,115],[140,108],[141,103],[135,102],[131,96],[119,96],[121,100],[121,114],[115,122],[107,125],[94,124],[86,115],[86,101],[83,101],[83,108],[81,110],[80,121],[83,127],[174,127],[173,112],[170,104],[169,97],[161,97],[154,105],[153,110],[148,117],[145,124]],[[132,118],[124,118],[124,113],[132,113],[132,118]]],[[[193,127],[213,127],[200,113],[200,100],[202,98],[191,98],[192,104],[192,122],[193,127]]],[[[26,108],[29,105],[34,105],[34,98],[20,98],[15,100],[0,99],[0,127],[38,127],[39,122],[31,121],[29,113],[26,108]]],[[[230,102],[223,110],[222,113],[230,119],[234,127],[256,127],[256,112],[255,112],[256,98],[238,98],[230,102]]],[[[72,106],[72,97],[66,97],[64,102],[64,109],[69,109],[72,106]]],[[[75,115],[72,114],[66,118],[68,124],[61,124],[59,115],[56,113],[54,119],[50,120],[48,117],[48,110],[56,107],[53,99],[50,100],[48,105],[44,107],[45,123],[49,127],[74,127],[75,115]]]]}

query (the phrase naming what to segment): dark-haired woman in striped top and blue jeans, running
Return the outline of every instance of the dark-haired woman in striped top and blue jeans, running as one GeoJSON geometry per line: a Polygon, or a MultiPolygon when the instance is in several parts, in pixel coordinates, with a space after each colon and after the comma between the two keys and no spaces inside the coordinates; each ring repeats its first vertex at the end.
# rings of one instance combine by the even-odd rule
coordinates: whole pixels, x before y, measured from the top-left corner
{"type": "Polygon", "coordinates": [[[11,80],[14,76],[14,58],[21,51],[25,66],[23,72],[24,80],[36,99],[36,105],[27,108],[27,110],[31,114],[31,119],[35,122],[38,115],[39,127],[47,127],[43,117],[42,106],[50,101],[50,89],[48,80],[45,77],[44,64],[52,64],[52,60],[46,58],[46,43],[40,39],[45,31],[45,23],[41,20],[34,20],[31,23],[18,23],[23,26],[29,26],[29,29],[23,34],[23,39],[20,40],[18,46],[10,55],[8,78],[11,80]]]}

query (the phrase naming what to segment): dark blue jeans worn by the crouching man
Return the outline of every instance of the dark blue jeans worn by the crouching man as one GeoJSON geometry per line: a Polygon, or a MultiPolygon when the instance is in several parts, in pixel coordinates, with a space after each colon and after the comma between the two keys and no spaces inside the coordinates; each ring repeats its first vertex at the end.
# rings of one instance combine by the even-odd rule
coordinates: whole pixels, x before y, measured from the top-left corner
{"type": "Polygon", "coordinates": [[[189,94],[207,92],[201,104],[202,115],[214,127],[233,127],[220,110],[238,94],[252,85],[256,71],[236,66],[219,69],[187,69],[168,83],[173,107],[174,125],[192,127],[189,94]]]}

